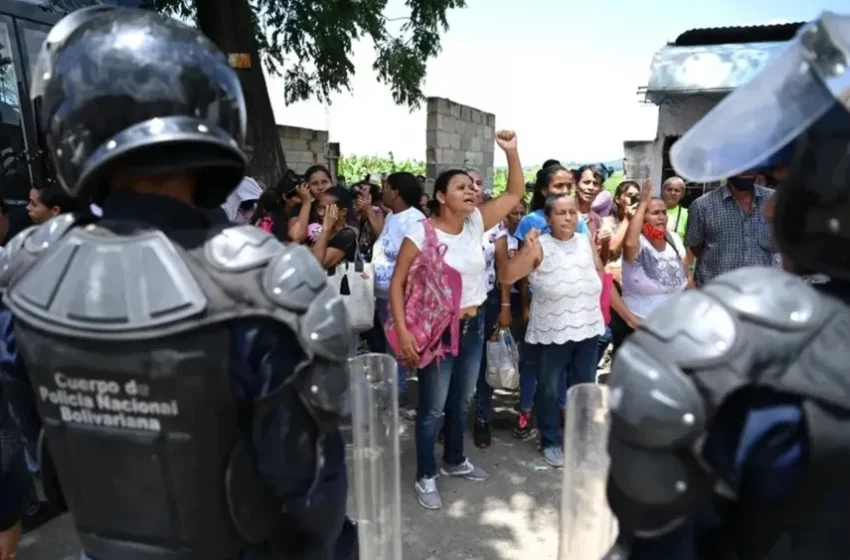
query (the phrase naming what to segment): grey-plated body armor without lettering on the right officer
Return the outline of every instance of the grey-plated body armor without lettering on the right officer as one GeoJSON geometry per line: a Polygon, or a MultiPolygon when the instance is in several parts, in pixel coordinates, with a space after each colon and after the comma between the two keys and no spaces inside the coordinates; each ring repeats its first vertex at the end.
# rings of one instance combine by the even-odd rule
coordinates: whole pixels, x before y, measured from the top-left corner
{"type": "Polygon", "coordinates": [[[620,348],[610,379],[609,501],[621,527],[663,533],[715,493],[724,527],[706,558],[845,558],[848,364],[850,308],[796,276],[745,268],[671,298],[620,348]],[[730,495],[702,460],[718,410],[750,388],[801,403],[803,474],[779,503],[730,495]]]}

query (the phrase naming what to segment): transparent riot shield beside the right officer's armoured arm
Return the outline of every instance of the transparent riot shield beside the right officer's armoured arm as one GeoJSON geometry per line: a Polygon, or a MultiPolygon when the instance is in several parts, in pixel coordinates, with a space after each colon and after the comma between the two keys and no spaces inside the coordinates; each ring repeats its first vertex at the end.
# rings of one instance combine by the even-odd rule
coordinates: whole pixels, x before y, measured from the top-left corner
{"type": "Polygon", "coordinates": [[[617,537],[608,508],[608,387],[574,385],[564,422],[560,560],[598,560],[617,537]]]}

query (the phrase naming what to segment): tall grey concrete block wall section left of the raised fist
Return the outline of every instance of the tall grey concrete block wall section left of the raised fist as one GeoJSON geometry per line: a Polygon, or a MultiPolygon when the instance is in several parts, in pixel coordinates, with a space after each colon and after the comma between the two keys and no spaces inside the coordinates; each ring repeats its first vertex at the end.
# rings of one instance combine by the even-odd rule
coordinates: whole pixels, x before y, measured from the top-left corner
{"type": "Polygon", "coordinates": [[[496,115],[441,97],[428,98],[425,163],[429,179],[464,165],[481,173],[493,188],[496,115]]]}

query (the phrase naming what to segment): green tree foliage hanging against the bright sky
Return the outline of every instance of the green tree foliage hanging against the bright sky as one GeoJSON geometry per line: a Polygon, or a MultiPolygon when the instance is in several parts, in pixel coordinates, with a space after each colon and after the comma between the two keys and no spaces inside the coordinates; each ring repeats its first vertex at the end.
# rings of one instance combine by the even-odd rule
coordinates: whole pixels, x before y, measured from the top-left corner
{"type": "MultiPolygon", "coordinates": [[[[199,1],[156,0],[155,5],[163,13],[191,19],[199,1]]],[[[242,1],[254,13],[264,66],[286,80],[287,103],[311,97],[329,103],[334,93],[350,90],[353,45],[368,39],[375,46],[378,79],[390,87],[396,103],[411,109],[424,98],[428,60],[439,54],[440,34],[448,30],[446,13],[466,7],[466,0],[406,0],[407,13],[388,18],[387,0],[242,1]]]]}

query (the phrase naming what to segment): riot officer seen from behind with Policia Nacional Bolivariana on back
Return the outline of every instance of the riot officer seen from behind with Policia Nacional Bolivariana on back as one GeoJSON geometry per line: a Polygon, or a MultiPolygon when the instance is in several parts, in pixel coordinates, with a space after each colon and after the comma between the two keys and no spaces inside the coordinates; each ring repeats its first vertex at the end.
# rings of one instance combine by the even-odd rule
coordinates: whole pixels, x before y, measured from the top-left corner
{"type": "Polygon", "coordinates": [[[59,183],[103,219],[12,241],[0,354],[85,553],[334,558],[351,334],[308,250],[204,213],[246,166],[226,57],[153,12],[83,10],[32,95],[59,183]]]}

